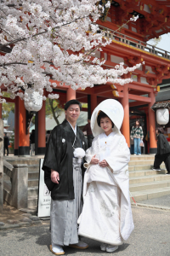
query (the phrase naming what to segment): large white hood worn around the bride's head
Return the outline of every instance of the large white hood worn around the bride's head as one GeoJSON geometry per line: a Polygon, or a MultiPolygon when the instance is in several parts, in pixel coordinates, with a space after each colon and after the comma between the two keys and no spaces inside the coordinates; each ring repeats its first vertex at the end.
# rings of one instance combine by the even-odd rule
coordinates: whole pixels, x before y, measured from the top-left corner
{"type": "Polygon", "coordinates": [[[124,110],[122,104],[113,99],[105,100],[99,103],[99,105],[94,109],[91,118],[91,129],[94,137],[104,132],[97,123],[97,118],[99,111],[103,111],[114,123],[113,131],[120,132],[122,126],[122,120],[124,118],[124,110]]]}

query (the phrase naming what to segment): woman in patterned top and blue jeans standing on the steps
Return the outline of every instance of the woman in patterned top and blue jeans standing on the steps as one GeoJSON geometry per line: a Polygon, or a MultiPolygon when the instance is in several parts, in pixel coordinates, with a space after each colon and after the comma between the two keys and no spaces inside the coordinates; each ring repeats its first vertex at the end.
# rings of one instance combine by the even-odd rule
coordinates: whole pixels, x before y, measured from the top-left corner
{"type": "Polygon", "coordinates": [[[135,126],[133,126],[130,134],[131,139],[134,141],[134,154],[141,154],[140,141],[143,140],[144,133],[140,126],[139,119],[136,120],[135,126]]]}

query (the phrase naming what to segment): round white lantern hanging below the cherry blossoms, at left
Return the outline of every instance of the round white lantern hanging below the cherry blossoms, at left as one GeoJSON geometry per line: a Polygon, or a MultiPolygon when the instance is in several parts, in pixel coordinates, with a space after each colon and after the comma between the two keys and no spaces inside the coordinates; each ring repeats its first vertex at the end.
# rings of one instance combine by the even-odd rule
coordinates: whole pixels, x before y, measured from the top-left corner
{"type": "Polygon", "coordinates": [[[34,90],[32,93],[28,93],[24,104],[27,111],[37,112],[42,108],[42,96],[34,90]]]}

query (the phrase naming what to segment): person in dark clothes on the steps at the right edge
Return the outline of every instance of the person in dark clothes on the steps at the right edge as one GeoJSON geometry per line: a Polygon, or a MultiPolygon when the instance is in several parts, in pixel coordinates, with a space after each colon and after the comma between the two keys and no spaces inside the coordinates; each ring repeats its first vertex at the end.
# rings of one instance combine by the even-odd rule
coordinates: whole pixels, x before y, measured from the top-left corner
{"type": "Polygon", "coordinates": [[[157,136],[157,153],[155,155],[154,167],[152,170],[161,171],[161,163],[164,162],[167,174],[170,174],[170,145],[167,142],[166,137],[163,135],[163,128],[156,128],[157,136]]]}

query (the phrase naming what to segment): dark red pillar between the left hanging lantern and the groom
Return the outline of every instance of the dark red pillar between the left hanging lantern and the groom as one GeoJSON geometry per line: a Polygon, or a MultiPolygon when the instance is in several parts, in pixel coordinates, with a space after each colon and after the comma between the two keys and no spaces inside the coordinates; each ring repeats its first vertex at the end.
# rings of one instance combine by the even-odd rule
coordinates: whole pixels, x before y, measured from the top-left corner
{"type": "Polygon", "coordinates": [[[45,101],[42,102],[42,108],[38,111],[38,129],[37,129],[37,154],[45,154],[46,148],[46,124],[45,124],[45,101]]]}

